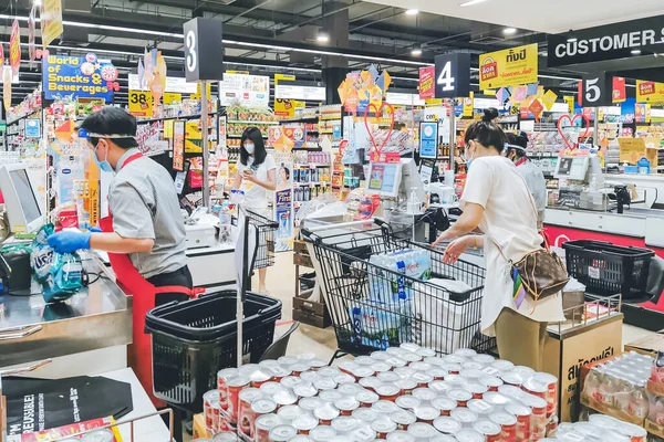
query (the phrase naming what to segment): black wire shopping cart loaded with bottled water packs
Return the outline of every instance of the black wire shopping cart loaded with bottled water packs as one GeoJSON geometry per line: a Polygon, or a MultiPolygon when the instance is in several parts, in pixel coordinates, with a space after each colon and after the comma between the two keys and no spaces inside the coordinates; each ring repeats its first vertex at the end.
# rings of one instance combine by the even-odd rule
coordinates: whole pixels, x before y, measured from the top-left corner
{"type": "Polygon", "coordinates": [[[346,223],[302,231],[322,271],[338,343],[332,360],[403,343],[438,354],[492,350],[495,339],[479,332],[485,270],[461,260],[447,265],[442,251],[397,239],[386,223],[374,222],[378,227],[369,230],[342,230],[357,225],[346,223]],[[403,250],[430,260],[430,271],[417,274],[415,266],[394,270],[381,263],[380,255],[403,250]]]}

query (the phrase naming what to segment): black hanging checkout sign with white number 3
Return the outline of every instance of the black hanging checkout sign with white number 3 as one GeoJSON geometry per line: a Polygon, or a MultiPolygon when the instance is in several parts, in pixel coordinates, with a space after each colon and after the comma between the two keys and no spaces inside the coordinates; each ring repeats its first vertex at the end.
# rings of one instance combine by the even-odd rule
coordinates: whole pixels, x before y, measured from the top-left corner
{"type": "Polygon", "coordinates": [[[188,83],[224,78],[221,21],[196,18],[184,25],[185,78],[188,83]]]}

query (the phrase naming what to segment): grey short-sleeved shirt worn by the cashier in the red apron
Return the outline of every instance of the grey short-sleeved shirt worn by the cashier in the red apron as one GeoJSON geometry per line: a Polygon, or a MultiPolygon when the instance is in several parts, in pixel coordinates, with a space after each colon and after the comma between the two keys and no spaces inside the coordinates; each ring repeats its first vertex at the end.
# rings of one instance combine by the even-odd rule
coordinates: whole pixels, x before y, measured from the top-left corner
{"type": "Polygon", "coordinates": [[[127,150],[117,161],[111,182],[108,209],[113,229],[123,238],[152,239],[151,253],[131,253],[129,260],[145,278],[175,272],[187,265],[185,223],[170,173],[143,157],[122,167],[138,149],[127,150]]]}

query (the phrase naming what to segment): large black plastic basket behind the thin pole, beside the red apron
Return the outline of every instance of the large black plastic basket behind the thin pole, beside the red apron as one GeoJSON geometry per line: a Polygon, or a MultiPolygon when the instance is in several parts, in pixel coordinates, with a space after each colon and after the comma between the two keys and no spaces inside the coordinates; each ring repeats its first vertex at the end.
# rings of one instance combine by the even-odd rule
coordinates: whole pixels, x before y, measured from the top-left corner
{"type": "MultiPolygon", "coordinates": [[[[237,367],[236,305],[237,292],[222,291],[147,314],[155,397],[194,413],[203,410],[203,394],[217,388],[217,371],[237,367]]],[[[281,302],[247,293],[243,308],[242,355],[258,362],[272,344],[281,302]]]]}

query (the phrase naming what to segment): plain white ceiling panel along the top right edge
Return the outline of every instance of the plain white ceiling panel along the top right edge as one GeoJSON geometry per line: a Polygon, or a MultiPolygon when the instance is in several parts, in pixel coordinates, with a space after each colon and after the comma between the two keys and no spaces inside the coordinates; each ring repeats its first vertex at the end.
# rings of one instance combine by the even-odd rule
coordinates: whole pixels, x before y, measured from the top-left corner
{"type": "MultiPolygon", "coordinates": [[[[370,0],[404,8],[403,0],[370,0]]],[[[467,0],[408,0],[408,8],[547,33],[583,29],[664,14],[664,0],[486,0],[460,7],[467,0]]]]}

